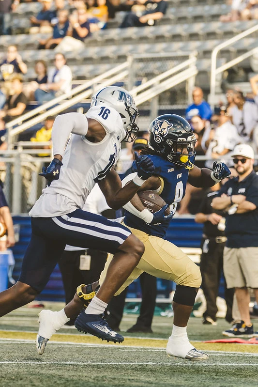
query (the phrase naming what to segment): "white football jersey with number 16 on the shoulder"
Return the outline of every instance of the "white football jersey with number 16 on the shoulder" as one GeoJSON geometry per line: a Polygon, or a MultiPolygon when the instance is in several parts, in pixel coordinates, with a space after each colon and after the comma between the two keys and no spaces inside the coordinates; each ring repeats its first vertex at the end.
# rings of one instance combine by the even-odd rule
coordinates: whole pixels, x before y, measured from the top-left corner
{"type": "MultiPolygon", "coordinates": [[[[105,138],[95,143],[85,138],[87,123],[84,115],[68,113],[59,117],[62,121],[58,120],[56,126],[54,123],[52,130],[54,155],[62,155],[62,147],[55,144],[62,133],[61,122],[63,130],[67,132],[67,127],[70,127],[73,134],[64,151],[59,179],[43,189],[43,194],[30,210],[30,217],[57,217],[83,208],[93,186],[105,178],[120,155],[121,140],[126,133],[121,116],[114,108],[98,105],[86,113],[88,119],[98,121],[106,131],[105,138]]],[[[63,134],[60,142],[64,137],[63,134]]]]}

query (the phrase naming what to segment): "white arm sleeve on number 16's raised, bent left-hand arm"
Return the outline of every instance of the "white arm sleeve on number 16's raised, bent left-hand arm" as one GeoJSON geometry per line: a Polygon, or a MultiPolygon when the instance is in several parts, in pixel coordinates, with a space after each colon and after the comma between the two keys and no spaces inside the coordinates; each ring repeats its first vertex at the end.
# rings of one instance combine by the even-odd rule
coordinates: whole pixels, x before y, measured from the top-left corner
{"type": "Polygon", "coordinates": [[[53,155],[63,156],[71,133],[86,136],[88,120],[82,113],[66,113],[56,117],[52,128],[53,155]]]}

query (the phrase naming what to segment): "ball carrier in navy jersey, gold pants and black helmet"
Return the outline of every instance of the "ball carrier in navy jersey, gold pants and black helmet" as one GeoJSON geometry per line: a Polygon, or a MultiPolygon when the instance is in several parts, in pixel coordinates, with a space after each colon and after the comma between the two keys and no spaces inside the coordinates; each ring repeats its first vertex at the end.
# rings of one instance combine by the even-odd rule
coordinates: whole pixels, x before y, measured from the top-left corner
{"type": "MultiPolygon", "coordinates": [[[[160,195],[167,205],[170,205],[172,214],[184,196],[187,181],[193,186],[209,187],[230,175],[224,163],[214,162],[213,170],[194,166],[195,142],[191,126],[178,115],[159,116],[150,125],[149,146],[142,152],[151,158],[155,170],[152,177],[139,190],[151,190],[152,193],[160,195]]],[[[136,173],[128,175],[122,181],[122,185],[129,184],[135,175],[136,173]]],[[[167,354],[188,360],[204,360],[208,355],[198,351],[189,342],[186,332],[187,322],[201,284],[200,270],[180,248],[165,239],[171,216],[161,218],[160,214],[165,213],[167,205],[152,214],[136,194],[123,206],[126,210],[123,223],[144,243],[145,252],[116,295],[144,271],[155,277],[176,282],[173,298],[174,321],[172,334],[167,343],[167,354]],[[157,221],[157,217],[160,221],[157,221]]],[[[64,309],[67,315],[78,314],[82,305],[79,298],[87,306],[87,300],[99,286],[101,289],[111,262],[112,256],[109,256],[98,282],[87,287],[85,285],[78,287],[74,300],[64,309]]],[[[49,330],[51,329],[53,330],[53,326],[49,323],[49,330]]]]}

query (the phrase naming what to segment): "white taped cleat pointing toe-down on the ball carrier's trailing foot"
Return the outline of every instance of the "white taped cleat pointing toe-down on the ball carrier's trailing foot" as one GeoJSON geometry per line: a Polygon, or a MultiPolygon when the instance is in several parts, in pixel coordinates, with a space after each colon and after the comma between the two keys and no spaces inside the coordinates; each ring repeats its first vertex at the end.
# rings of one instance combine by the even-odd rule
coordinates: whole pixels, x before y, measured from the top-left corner
{"type": "Polygon", "coordinates": [[[39,355],[43,355],[47,341],[56,333],[53,326],[53,317],[56,312],[51,310],[42,310],[39,313],[39,332],[37,334],[36,346],[39,355]]]}

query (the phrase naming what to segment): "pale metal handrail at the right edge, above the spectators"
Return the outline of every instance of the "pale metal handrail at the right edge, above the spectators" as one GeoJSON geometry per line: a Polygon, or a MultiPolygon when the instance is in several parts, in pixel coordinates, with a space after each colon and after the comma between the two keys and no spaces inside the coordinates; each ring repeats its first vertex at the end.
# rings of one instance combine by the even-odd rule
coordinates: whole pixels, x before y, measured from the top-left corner
{"type": "Polygon", "coordinates": [[[220,67],[217,67],[218,52],[220,50],[222,50],[223,48],[226,48],[226,47],[238,42],[239,40],[243,39],[245,36],[248,36],[251,33],[254,33],[256,31],[258,31],[258,24],[256,26],[249,28],[246,31],[239,33],[238,35],[234,36],[233,38],[228,39],[226,42],[219,44],[218,46],[216,46],[213,49],[212,57],[211,57],[211,85],[210,85],[210,103],[212,105],[212,108],[214,108],[217,74],[220,74],[223,71],[227,70],[228,68],[234,66],[235,64],[242,62],[244,59],[249,58],[251,55],[253,55],[255,52],[258,51],[258,47],[255,47],[252,50],[249,50],[248,52],[238,56],[237,58],[233,59],[232,61],[229,61],[229,62],[223,64],[220,67]]]}

